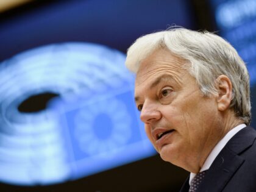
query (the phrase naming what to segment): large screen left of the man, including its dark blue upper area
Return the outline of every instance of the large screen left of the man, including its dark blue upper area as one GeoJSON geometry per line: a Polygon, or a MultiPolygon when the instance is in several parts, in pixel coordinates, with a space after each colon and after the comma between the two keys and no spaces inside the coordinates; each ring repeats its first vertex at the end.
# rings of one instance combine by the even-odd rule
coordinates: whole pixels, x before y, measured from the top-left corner
{"type": "Polygon", "coordinates": [[[48,185],[154,155],[125,52],[171,24],[193,29],[190,9],[185,0],[55,1],[2,20],[0,181],[48,185]]]}

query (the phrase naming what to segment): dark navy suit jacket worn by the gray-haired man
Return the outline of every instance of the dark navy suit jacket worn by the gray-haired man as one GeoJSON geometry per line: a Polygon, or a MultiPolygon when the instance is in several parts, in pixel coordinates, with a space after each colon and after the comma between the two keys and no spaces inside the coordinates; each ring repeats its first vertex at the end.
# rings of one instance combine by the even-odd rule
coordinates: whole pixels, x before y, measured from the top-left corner
{"type": "MultiPolygon", "coordinates": [[[[256,131],[245,127],[234,135],[215,158],[197,192],[256,191],[256,131]]],[[[180,192],[188,192],[189,178],[180,192]]]]}

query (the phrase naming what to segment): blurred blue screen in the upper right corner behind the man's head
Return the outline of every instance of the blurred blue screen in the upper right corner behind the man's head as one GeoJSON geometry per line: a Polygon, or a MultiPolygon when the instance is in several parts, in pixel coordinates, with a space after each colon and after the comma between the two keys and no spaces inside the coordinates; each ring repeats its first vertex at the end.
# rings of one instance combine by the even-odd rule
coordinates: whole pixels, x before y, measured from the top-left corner
{"type": "Polygon", "coordinates": [[[256,83],[256,0],[212,0],[213,12],[222,37],[238,51],[256,83]]]}

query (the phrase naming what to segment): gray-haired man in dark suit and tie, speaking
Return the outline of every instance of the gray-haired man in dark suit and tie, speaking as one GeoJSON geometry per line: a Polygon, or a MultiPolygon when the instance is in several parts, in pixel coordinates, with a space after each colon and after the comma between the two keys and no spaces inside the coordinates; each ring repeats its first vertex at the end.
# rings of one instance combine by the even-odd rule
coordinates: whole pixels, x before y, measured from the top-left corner
{"type": "Polygon", "coordinates": [[[181,191],[256,191],[249,75],[229,43],[170,29],[138,38],[126,66],[149,140],[191,172],[181,191]]]}

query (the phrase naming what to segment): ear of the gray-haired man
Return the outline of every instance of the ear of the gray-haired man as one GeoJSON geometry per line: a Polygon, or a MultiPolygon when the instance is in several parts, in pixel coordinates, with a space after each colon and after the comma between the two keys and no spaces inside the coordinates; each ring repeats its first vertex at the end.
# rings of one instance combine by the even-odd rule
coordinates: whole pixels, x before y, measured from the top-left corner
{"type": "Polygon", "coordinates": [[[219,111],[229,108],[232,100],[232,83],[229,77],[221,75],[216,79],[216,88],[218,89],[217,105],[219,111]]]}

